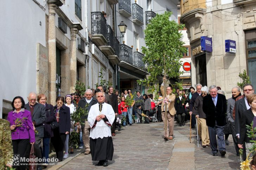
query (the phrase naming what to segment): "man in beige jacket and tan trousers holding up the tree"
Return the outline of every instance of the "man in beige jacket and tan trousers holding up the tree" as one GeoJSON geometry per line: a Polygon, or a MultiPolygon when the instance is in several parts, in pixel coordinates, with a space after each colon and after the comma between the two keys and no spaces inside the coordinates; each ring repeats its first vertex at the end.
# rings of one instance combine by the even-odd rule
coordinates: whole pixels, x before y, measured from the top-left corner
{"type": "Polygon", "coordinates": [[[168,86],[166,88],[166,94],[164,93],[164,85],[160,87],[161,93],[164,94],[164,100],[162,101],[161,111],[162,111],[162,120],[164,121],[165,129],[165,111],[167,113],[167,124],[164,131],[164,139],[166,141],[173,140],[173,128],[174,128],[174,115],[176,114],[174,108],[175,94],[172,94],[172,87],[168,86]],[[167,107],[165,107],[167,105],[167,107]],[[167,110],[165,110],[167,108],[167,110]],[[167,130],[169,129],[169,132],[167,130]]]}

